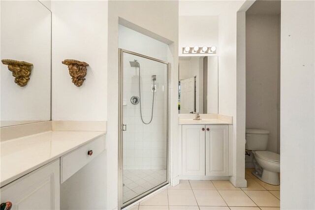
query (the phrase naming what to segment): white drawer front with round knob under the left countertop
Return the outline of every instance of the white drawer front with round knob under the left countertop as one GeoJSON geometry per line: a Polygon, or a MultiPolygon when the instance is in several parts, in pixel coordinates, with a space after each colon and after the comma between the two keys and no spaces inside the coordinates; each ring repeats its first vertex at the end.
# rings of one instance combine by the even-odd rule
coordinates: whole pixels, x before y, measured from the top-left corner
{"type": "Polygon", "coordinates": [[[98,154],[105,150],[105,136],[98,137],[92,142],[74,150],[60,158],[60,182],[70,178],[83,166],[93,160],[98,154]]]}

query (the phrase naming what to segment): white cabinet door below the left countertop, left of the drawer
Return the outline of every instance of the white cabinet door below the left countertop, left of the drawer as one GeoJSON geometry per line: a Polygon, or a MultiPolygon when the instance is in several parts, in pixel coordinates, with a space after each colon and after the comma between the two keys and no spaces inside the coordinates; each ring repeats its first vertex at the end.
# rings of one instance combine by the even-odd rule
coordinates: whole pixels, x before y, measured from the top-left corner
{"type": "Polygon", "coordinates": [[[60,209],[59,171],[58,159],[1,187],[1,203],[11,202],[11,210],[60,209]]]}

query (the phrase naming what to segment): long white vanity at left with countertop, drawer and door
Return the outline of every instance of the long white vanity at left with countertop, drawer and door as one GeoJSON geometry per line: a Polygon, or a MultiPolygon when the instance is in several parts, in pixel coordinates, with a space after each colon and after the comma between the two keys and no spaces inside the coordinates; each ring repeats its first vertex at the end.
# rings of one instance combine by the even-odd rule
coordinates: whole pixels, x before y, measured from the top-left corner
{"type": "MultiPolygon", "coordinates": [[[[4,142],[1,147],[0,202],[11,202],[12,210],[59,210],[66,209],[60,202],[61,183],[105,150],[105,135],[50,131],[4,142]],[[39,144],[32,145],[36,141],[39,144]]],[[[78,187],[82,192],[95,176],[91,173],[87,178],[78,187]]]]}

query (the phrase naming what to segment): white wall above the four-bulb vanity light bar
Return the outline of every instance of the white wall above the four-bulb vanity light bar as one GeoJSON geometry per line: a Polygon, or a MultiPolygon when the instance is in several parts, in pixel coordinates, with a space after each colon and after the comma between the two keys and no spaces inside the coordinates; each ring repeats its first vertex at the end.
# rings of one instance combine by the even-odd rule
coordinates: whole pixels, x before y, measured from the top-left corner
{"type": "MultiPolygon", "coordinates": [[[[182,2],[180,2],[181,4],[182,2]]],[[[183,10],[180,9],[180,13],[183,10]]],[[[202,14],[202,13],[199,13],[202,14]]],[[[208,14],[208,13],[205,13],[208,14]]],[[[211,14],[210,14],[211,15],[211,14]]],[[[192,56],[183,54],[183,47],[189,46],[218,46],[218,28],[219,16],[185,16],[181,13],[179,16],[179,56],[192,56]]],[[[218,52],[218,51],[217,51],[218,52]]],[[[200,56],[200,55],[196,55],[200,56]]]]}

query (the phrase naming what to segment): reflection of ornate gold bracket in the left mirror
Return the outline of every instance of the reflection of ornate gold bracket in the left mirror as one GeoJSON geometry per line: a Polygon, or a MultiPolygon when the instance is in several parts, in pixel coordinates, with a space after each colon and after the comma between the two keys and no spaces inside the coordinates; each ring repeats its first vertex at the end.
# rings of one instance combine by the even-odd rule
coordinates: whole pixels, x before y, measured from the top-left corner
{"type": "Polygon", "coordinates": [[[14,82],[21,87],[28,84],[31,75],[32,63],[19,61],[19,60],[1,60],[4,65],[8,65],[8,69],[12,71],[12,75],[15,78],[14,82]]]}

